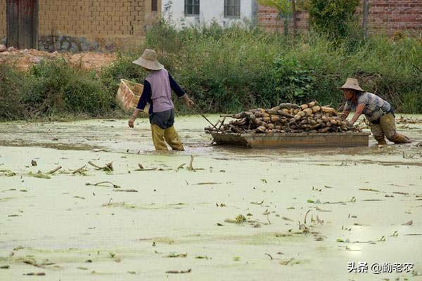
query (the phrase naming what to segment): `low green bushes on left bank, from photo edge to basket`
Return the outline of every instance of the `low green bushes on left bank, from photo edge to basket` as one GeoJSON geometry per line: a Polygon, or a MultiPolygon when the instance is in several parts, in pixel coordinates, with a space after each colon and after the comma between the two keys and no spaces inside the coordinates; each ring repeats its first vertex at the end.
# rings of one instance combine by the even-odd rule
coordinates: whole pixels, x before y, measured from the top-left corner
{"type": "Polygon", "coordinates": [[[64,59],[41,61],[27,72],[0,65],[0,81],[0,119],[102,117],[116,107],[94,71],[64,59]]]}

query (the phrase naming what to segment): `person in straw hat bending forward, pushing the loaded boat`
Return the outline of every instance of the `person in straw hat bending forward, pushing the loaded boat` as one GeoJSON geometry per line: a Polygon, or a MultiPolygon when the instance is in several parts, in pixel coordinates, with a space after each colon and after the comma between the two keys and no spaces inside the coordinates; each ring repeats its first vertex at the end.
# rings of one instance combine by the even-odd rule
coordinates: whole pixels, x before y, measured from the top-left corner
{"type": "Polygon", "coordinates": [[[373,138],[378,141],[378,145],[386,145],[385,136],[394,143],[411,143],[407,136],[397,133],[395,129],[395,115],[392,105],[373,93],[368,93],[359,86],[359,82],[354,78],[347,78],[346,83],[340,87],[346,99],[343,110],[343,119],[346,119],[351,110],[354,116],[350,120],[351,124],[359,119],[364,113],[366,119],[371,122],[373,138]]]}

